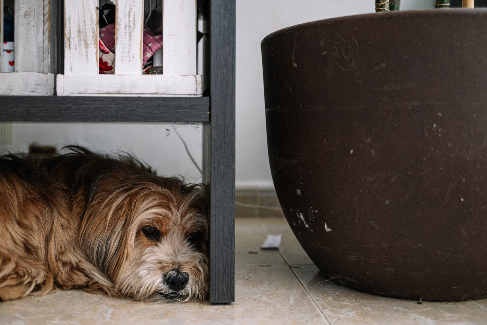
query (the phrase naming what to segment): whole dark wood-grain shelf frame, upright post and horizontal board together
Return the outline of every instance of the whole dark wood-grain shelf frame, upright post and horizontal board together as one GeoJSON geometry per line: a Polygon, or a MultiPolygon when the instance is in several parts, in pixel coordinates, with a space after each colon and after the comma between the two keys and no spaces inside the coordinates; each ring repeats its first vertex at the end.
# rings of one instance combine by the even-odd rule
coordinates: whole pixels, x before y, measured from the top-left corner
{"type": "MultiPolygon", "coordinates": [[[[62,0],[57,0],[58,30],[62,0]]],[[[235,0],[204,0],[203,97],[0,96],[0,122],[203,124],[211,303],[235,301],[235,0]]],[[[58,33],[57,42],[63,42],[58,33]]],[[[57,70],[63,71],[58,46],[57,70]]]]}

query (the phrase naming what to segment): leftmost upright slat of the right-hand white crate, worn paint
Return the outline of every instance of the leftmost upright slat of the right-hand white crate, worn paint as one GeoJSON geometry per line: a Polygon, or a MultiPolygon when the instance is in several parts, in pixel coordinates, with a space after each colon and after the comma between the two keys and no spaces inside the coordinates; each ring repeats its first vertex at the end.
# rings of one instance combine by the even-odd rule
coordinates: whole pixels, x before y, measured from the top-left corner
{"type": "Polygon", "coordinates": [[[64,2],[64,73],[97,75],[98,0],[64,2]]]}

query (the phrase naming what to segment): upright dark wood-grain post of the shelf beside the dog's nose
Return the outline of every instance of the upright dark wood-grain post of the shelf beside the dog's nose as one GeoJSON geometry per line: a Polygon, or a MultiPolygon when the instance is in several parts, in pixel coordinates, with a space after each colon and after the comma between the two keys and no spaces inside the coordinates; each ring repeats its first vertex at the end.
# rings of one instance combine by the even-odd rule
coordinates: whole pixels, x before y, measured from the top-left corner
{"type": "Polygon", "coordinates": [[[206,0],[211,123],[204,126],[209,185],[210,301],[235,301],[235,0],[206,0]]]}

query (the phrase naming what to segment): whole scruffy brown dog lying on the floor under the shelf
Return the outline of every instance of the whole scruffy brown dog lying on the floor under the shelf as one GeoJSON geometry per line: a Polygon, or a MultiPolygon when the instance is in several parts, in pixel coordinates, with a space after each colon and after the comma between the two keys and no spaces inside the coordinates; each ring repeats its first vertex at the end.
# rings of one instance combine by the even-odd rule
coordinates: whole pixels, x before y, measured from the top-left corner
{"type": "Polygon", "coordinates": [[[61,287],[143,301],[208,290],[206,195],[130,155],[0,156],[0,301],[61,287]]]}

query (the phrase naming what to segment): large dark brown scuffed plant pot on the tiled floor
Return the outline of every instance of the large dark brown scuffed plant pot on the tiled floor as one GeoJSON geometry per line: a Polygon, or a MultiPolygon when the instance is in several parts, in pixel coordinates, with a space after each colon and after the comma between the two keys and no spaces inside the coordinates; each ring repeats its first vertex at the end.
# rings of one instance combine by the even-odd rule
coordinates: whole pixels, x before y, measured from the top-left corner
{"type": "Polygon", "coordinates": [[[262,41],[271,172],[334,281],[487,296],[487,11],[314,21],[262,41]]]}

